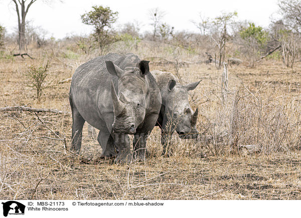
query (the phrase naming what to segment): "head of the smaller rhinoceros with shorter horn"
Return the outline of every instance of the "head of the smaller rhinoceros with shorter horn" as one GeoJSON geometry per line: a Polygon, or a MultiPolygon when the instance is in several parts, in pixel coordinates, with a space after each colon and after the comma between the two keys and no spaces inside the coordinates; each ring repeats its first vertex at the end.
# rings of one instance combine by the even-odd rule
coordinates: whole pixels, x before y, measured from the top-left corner
{"type": "Polygon", "coordinates": [[[194,112],[190,107],[188,91],[195,89],[199,83],[200,81],[182,85],[171,79],[167,86],[165,111],[169,123],[181,138],[195,138],[198,135],[198,108],[194,112]]]}

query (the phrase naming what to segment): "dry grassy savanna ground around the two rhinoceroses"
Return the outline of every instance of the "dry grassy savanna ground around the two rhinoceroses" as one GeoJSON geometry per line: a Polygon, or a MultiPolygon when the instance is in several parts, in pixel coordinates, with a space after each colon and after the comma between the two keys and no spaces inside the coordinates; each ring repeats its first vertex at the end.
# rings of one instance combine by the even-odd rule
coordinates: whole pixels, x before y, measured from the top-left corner
{"type": "MultiPolygon", "coordinates": [[[[88,137],[87,124],[83,129],[84,158],[68,151],[70,113],[3,111],[1,199],[301,198],[299,62],[293,70],[273,58],[255,68],[246,63],[229,66],[228,93],[223,101],[223,69],[216,69],[214,63],[178,67],[150,57],[176,62],[197,62],[202,57],[163,45],[124,46],[141,59],[153,60],[150,69],[178,70],[183,83],[202,79],[190,96],[192,108],[200,110],[200,138],[181,140],[175,134],[174,155],[161,156],[161,131],[155,127],[147,141],[151,157],[145,162],[118,165],[113,159],[97,158],[101,148],[95,138],[88,137]],[[248,144],[258,145],[259,151],[237,148],[248,144]]],[[[110,51],[124,52],[120,45],[116,47],[110,51]]],[[[70,112],[70,82],[58,82],[71,77],[80,64],[96,54],[84,55],[72,47],[58,46],[31,49],[30,53],[35,59],[0,59],[0,106],[28,105],[70,112]],[[47,77],[51,87],[37,100],[24,74],[29,65],[41,65],[46,60],[51,64],[47,77]]]]}

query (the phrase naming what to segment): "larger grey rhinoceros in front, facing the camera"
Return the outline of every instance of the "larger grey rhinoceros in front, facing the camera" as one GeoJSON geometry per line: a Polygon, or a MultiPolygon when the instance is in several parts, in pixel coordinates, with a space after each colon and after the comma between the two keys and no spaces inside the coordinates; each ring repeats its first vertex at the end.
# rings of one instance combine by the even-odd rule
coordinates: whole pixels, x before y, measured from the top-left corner
{"type": "Polygon", "coordinates": [[[148,62],[132,53],[109,53],[76,69],[69,92],[73,150],[80,151],[87,121],[99,129],[97,140],[103,156],[117,155],[115,162],[130,162],[127,134],[134,134],[134,156],[144,158],[146,138],[161,107],[160,90],[148,62]]]}

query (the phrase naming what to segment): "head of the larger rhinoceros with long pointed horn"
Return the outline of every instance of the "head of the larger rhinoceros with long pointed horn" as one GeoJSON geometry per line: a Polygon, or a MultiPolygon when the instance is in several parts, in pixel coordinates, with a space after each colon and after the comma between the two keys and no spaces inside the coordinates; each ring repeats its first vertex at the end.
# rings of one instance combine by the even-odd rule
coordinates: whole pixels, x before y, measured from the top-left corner
{"type": "Polygon", "coordinates": [[[147,60],[141,60],[137,66],[119,68],[112,61],[106,61],[108,71],[118,77],[118,93],[111,83],[114,123],[113,131],[134,134],[143,121],[148,103],[148,83],[145,75],[149,72],[147,60]]]}

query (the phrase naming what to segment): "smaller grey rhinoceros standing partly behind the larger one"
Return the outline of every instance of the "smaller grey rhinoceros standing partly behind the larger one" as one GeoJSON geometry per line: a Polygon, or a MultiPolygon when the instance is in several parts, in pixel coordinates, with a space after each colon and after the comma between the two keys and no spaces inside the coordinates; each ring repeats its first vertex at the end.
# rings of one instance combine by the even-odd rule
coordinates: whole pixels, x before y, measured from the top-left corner
{"type": "Polygon", "coordinates": [[[162,105],[156,125],[161,128],[161,142],[163,154],[170,155],[172,150],[168,149],[174,131],[180,138],[196,138],[198,108],[194,112],[189,104],[188,91],[197,87],[200,81],[187,85],[178,82],[178,78],[171,72],[152,70],[156,78],[162,96],[162,105]]]}

